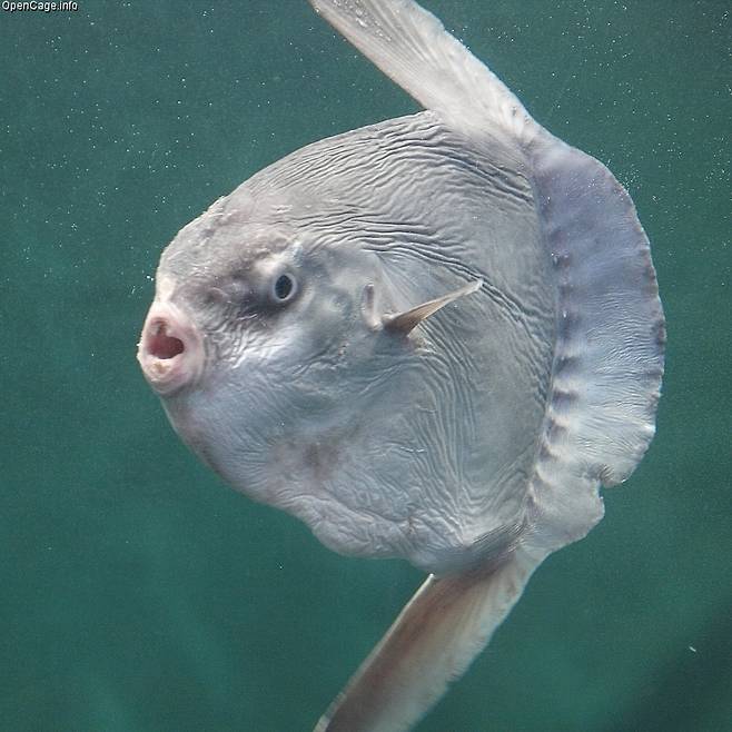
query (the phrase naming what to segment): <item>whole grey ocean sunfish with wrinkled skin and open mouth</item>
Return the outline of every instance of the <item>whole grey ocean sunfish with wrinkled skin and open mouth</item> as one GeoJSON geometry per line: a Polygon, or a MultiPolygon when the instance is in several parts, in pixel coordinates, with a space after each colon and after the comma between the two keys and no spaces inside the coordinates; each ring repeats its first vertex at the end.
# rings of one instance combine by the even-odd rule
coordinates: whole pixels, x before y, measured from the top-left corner
{"type": "Polygon", "coordinates": [[[310,0],[424,109],[257,172],[162,253],[138,359],[174,429],[335,552],[427,578],[316,732],[414,726],[655,432],[631,197],[412,0],[310,0]]]}

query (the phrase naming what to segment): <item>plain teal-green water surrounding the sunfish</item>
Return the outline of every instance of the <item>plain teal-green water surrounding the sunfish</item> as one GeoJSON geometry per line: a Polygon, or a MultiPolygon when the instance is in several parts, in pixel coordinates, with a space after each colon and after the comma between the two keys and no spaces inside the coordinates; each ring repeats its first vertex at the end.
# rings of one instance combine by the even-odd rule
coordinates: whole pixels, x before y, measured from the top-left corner
{"type": "MultiPolygon", "coordinates": [[[[731,730],[730,6],[424,4],[629,188],[669,350],[645,459],[418,730],[731,730]]],[[[423,577],[225,487],[136,343],[215,198],[417,107],[305,0],[0,10],[0,730],[308,732],[423,577]]]]}

